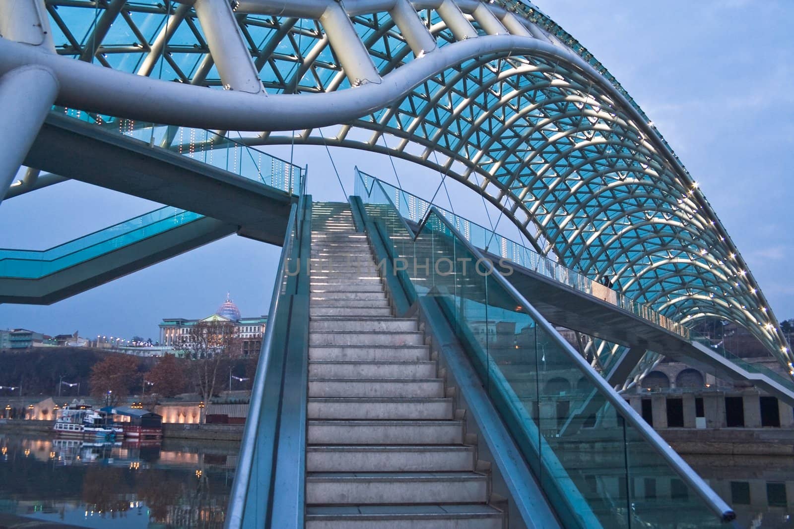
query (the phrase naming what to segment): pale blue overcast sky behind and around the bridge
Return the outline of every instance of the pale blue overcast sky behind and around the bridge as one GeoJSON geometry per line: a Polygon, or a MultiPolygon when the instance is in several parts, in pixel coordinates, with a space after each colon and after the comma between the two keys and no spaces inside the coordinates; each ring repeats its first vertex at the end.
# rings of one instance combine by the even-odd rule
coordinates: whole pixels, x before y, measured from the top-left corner
{"type": "MultiPolygon", "coordinates": [[[[794,317],[794,2],[536,3],[642,106],[700,183],[778,318],[794,317]]],[[[332,152],[348,193],[356,164],[395,181],[381,156],[332,152]]],[[[324,150],[295,148],[295,163],[308,163],[315,200],[344,196],[324,150]]],[[[395,164],[403,185],[432,194],[437,174],[395,164]]],[[[480,197],[462,186],[451,192],[458,213],[484,219],[480,197]]],[[[52,247],[157,206],[65,182],[4,201],[0,247],[52,247]]],[[[0,328],[156,339],[164,317],[208,316],[227,291],[243,316],[257,316],[268,311],[279,251],[230,236],[54,305],[0,305],[0,328]]]]}

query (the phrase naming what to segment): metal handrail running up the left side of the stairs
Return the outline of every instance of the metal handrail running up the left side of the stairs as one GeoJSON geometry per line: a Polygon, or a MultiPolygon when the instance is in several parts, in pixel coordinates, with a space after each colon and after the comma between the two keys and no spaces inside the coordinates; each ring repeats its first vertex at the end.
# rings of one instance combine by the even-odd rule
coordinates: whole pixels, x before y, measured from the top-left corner
{"type": "Polygon", "coordinates": [[[259,429],[259,417],[264,398],[264,383],[267,380],[268,362],[270,360],[273,335],[276,328],[276,314],[279,309],[281,298],[281,280],[290,258],[292,243],[295,238],[293,232],[297,221],[298,205],[291,205],[290,216],[287,221],[287,233],[284,236],[281,251],[279,268],[276,270],[276,287],[270,300],[268,310],[268,326],[262,339],[259,362],[256,362],[256,376],[254,377],[251,389],[251,400],[249,405],[248,420],[245,421],[245,430],[241,439],[240,457],[237,462],[237,471],[234,475],[231,492],[229,493],[229,508],[226,510],[225,527],[241,527],[245,514],[245,500],[249,492],[249,481],[251,468],[253,466],[254,448],[256,447],[256,435],[259,429]],[[255,419],[255,420],[251,420],[255,419]]]}

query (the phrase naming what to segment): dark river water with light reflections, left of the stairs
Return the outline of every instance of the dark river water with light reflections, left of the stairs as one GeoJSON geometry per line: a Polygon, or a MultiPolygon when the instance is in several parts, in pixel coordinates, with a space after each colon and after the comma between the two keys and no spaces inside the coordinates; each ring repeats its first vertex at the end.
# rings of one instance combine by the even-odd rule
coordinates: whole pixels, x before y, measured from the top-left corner
{"type": "Polygon", "coordinates": [[[223,526],[237,443],[87,443],[0,434],[0,527],[223,526]]]}

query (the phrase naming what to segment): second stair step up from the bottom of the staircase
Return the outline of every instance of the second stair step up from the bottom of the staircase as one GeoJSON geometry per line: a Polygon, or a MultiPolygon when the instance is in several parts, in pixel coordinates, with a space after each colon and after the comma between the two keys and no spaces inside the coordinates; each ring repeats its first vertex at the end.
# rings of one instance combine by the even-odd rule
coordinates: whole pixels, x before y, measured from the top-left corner
{"type": "Polygon", "coordinates": [[[306,475],[308,504],[484,504],[487,500],[487,477],[473,472],[306,475]]]}

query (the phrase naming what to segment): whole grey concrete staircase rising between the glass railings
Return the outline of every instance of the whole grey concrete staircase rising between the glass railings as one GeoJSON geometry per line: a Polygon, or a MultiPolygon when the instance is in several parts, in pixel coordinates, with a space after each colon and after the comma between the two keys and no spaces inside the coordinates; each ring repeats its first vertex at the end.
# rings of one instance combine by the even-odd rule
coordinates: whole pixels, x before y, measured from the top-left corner
{"type": "Polygon", "coordinates": [[[418,320],[391,316],[349,205],[312,211],[306,527],[502,529],[418,320]]]}

